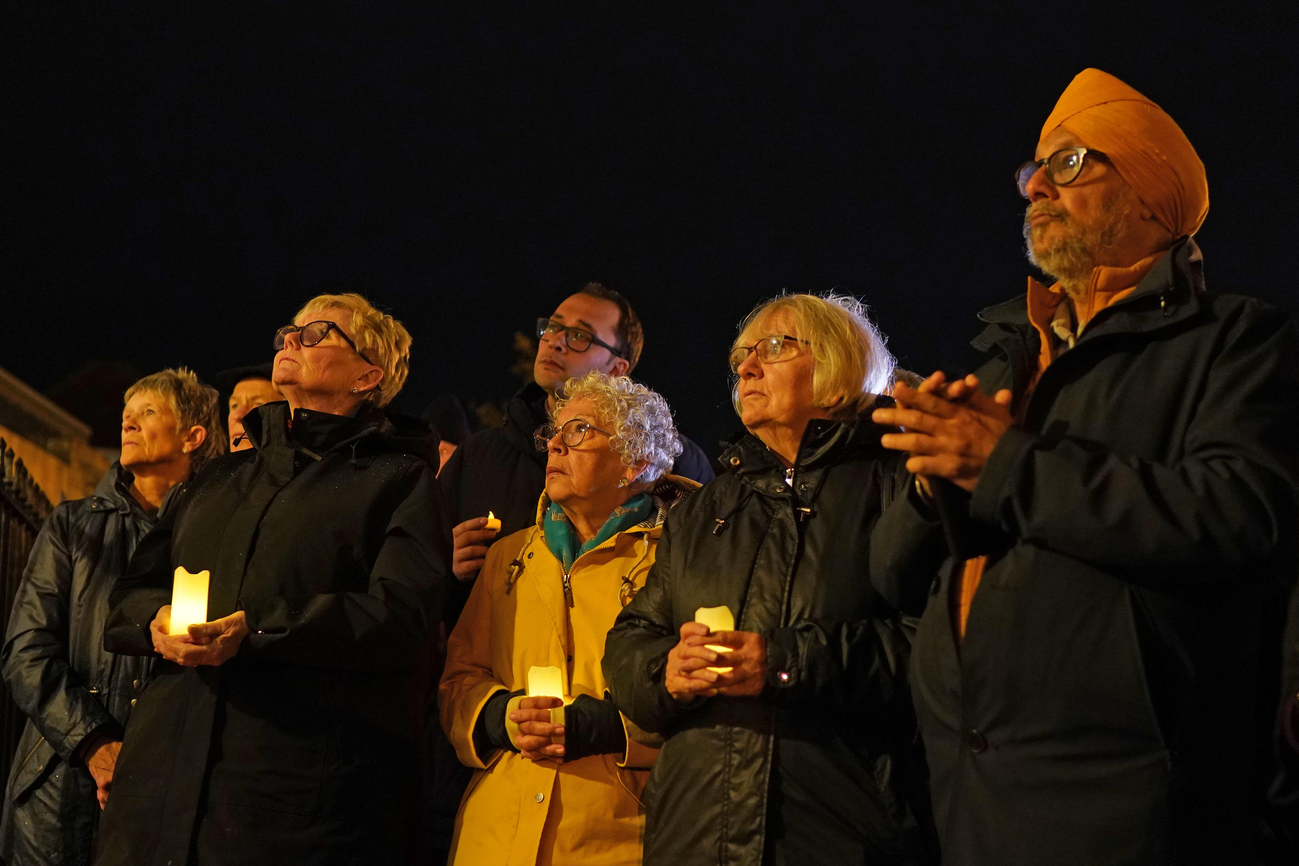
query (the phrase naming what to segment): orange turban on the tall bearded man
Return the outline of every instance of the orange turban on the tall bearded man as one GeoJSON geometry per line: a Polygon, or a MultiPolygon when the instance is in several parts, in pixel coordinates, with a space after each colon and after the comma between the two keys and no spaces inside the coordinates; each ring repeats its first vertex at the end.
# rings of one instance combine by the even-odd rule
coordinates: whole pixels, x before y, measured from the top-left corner
{"type": "Polygon", "coordinates": [[[1164,109],[1099,69],[1078,73],[1042,125],[1103,152],[1174,238],[1194,235],[1209,212],[1204,164],[1164,109]]]}

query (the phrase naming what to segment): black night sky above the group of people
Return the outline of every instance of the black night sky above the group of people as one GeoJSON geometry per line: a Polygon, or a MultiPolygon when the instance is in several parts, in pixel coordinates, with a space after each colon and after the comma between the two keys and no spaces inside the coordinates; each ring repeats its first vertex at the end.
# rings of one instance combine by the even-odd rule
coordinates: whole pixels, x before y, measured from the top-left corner
{"type": "Polygon", "coordinates": [[[1011,173],[1085,66],[1208,166],[1211,287],[1296,306],[1299,32],[1243,4],[112,5],[10,12],[0,365],[38,388],[269,358],[347,280],[414,336],[399,405],[503,397],[512,334],[599,279],[709,448],[781,288],[865,297],[913,369],[964,357],[1030,273],[1011,173]]]}

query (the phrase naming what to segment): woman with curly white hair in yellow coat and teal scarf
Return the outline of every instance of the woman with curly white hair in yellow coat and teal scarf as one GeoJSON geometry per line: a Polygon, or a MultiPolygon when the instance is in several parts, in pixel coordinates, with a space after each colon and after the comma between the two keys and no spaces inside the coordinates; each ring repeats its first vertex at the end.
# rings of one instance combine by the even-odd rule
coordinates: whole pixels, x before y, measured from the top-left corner
{"type": "Polygon", "coordinates": [[[666,474],[681,441],[661,396],[601,373],[564,393],[536,431],[536,523],[491,547],[447,648],[442,724],[477,770],[453,863],[640,862],[657,741],[607,700],[604,636],[644,584],[668,509],[699,484],[666,474]],[[538,667],[556,687],[530,678],[538,667]]]}

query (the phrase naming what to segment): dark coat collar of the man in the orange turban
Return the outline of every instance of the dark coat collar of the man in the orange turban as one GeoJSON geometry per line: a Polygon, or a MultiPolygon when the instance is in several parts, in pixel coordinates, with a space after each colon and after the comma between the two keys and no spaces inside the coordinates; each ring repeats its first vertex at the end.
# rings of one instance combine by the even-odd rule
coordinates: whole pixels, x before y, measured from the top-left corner
{"type": "MultiPolygon", "coordinates": [[[[1103,332],[1155,331],[1194,315],[1204,292],[1203,265],[1204,256],[1194,239],[1177,240],[1130,295],[1096,313],[1079,343],[1103,332]]],[[[991,349],[1007,327],[1031,328],[1026,293],[979,310],[978,317],[989,327],[970,345],[981,352],[991,349]]]]}

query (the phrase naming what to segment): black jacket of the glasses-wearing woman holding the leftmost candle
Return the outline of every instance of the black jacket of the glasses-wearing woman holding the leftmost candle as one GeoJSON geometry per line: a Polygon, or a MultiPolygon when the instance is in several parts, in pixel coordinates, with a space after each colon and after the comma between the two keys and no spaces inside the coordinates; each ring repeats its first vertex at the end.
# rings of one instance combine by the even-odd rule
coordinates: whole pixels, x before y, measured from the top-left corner
{"type": "Polygon", "coordinates": [[[397,862],[413,811],[410,662],[440,615],[451,534],[422,443],[382,417],[266,404],[140,543],[105,645],[151,654],[173,570],[251,634],[218,667],[160,660],[131,717],[104,865],[397,862]],[[187,854],[195,854],[187,861],[187,854]]]}

